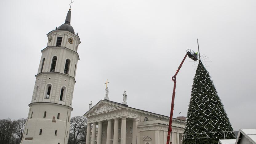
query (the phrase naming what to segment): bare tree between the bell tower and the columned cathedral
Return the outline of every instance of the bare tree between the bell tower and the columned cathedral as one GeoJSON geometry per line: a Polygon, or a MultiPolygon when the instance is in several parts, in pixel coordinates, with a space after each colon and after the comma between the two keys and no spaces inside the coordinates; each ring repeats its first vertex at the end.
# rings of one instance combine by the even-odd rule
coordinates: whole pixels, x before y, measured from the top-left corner
{"type": "Polygon", "coordinates": [[[70,120],[69,144],[78,144],[86,141],[87,119],[83,116],[75,116],[70,120]]]}

